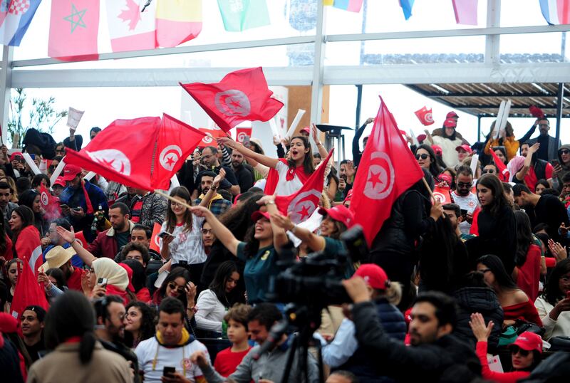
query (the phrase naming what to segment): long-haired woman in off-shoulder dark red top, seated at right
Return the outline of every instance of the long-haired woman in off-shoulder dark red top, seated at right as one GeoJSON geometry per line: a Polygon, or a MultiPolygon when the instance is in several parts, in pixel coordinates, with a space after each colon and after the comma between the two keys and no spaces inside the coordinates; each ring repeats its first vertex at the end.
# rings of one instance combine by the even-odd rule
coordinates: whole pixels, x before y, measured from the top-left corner
{"type": "Polygon", "coordinates": [[[542,325],[537,308],[504,270],[499,257],[487,255],[477,259],[477,271],[483,273],[485,283],[497,294],[504,311],[503,327],[512,326],[517,320],[542,325]]]}

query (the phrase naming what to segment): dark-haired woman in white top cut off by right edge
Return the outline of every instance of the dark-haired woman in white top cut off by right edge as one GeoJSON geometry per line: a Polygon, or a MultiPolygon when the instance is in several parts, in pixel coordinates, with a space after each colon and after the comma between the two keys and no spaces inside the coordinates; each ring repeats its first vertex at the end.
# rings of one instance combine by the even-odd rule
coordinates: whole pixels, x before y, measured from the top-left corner
{"type": "Polygon", "coordinates": [[[570,259],[559,263],[550,274],[544,293],[534,302],[546,328],[544,340],[570,335],[570,259]]]}

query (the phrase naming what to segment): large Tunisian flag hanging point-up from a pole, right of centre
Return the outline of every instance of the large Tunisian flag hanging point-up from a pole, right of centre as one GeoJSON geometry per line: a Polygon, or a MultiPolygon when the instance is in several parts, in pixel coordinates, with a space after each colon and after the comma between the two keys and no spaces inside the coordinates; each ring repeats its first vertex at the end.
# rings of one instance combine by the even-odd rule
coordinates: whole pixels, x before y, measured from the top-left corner
{"type": "Polygon", "coordinates": [[[395,120],[380,97],[380,109],[362,154],[353,190],[351,210],[363,227],[368,246],[390,216],[398,196],[423,177],[395,120]]]}

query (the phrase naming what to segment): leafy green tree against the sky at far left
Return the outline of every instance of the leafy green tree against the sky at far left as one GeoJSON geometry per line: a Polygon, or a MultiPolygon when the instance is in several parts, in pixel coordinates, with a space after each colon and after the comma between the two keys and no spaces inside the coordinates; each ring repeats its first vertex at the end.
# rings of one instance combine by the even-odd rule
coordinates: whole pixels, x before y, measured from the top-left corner
{"type": "Polygon", "coordinates": [[[54,109],[56,99],[53,97],[47,100],[32,98],[31,105],[28,105],[29,103],[26,103],[26,100],[27,95],[23,88],[12,89],[8,140],[12,142],[14,134],[18,133],[20,137],[16,142],[17,145],[13,144],[15,147],[21,147],[21,141],[29,128],[35,127],[40,132],[52,134],[56,124],[63,117],[67,117],[67,110],[57,111],[54,109]]]}

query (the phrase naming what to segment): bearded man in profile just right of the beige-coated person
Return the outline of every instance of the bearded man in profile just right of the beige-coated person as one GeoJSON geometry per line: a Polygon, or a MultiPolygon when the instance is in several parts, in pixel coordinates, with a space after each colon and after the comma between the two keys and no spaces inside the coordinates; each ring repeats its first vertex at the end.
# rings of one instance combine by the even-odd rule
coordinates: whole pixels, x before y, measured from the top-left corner
{"type": "Polygon", "coordinates": [[[135,372],[133,382],[140,382],[138,374],[138,358],[129,347],[123,344],[125,336],[125,305],[123,298],[117,295],[108,295],[93,302],[95,308],[95,336],[103,348],[116,352],[130,362],[130,368],[135,372]]]}

